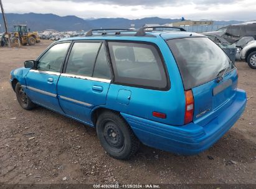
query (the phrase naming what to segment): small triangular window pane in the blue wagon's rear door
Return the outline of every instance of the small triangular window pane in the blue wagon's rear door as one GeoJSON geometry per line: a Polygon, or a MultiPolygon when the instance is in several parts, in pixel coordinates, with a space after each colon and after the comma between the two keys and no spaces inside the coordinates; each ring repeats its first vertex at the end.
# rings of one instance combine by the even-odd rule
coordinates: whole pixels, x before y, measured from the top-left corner
{"type": "Polygon", "coordinates": [[[105,45],[102,44],[93,70],[93,77],[110,79],[110,67],[106,55],[105,45]]]}

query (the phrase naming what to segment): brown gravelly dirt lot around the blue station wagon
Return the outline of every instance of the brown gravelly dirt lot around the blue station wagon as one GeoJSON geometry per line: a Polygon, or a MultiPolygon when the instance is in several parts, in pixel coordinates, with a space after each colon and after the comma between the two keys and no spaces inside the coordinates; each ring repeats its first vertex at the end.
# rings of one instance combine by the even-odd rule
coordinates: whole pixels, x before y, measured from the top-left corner
{"type": "Polygon", "coordinates": [[[0,47],[0,183],[256,184],[256,70],[246,63],[236,63],[239,88],[254,97],[211,149],[186,157],[141,145],[138,154],[123,161],[105,153],[95,129],[45,108],[25,111],[17,103],[10,71],[49,44],[0,47]]]}

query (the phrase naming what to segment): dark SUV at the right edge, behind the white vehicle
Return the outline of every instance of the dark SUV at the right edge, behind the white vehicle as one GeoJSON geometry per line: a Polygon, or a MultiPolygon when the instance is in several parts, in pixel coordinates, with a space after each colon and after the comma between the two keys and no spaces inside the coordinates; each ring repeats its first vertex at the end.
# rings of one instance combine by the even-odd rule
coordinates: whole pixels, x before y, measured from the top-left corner
{"type": "Polygon", "coordinates": [[[215,34],[224,37],[225,40],[234,44],[242,37],[254,37],[256,39],[256,24],[236,24],[222,27],[215,32],[206,32],[205,34],[215,34]]]}

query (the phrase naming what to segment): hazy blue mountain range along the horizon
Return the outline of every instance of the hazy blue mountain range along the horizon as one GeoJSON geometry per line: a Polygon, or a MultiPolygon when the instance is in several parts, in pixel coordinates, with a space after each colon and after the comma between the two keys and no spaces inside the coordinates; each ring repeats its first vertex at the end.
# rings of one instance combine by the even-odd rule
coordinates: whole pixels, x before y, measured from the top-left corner
{"type": "MultiPolygon", "coordinates": [[[[101,18],[101,19],[81,19],[77,16],[57,16],[55,14],[6,14],[9,29],[12,30],[14,24],[27,24],[31,30],[54,29],[65,30],[88,30],[99,28],[130,28],[131,24],[135,27],[141,27],[144,24],[167,24],[178,22],[180,19],[162,19],[159,17],[146,17],[143,19],[125,19],[125,18],[101,18]]],[[[241,21],[215,21],[214,24],[239,24],[241,21]]],[[[3,25],[0,16],[0,24],[3,25]]],[[[0,30],[1,32],[1,30],[0,30]]]]}

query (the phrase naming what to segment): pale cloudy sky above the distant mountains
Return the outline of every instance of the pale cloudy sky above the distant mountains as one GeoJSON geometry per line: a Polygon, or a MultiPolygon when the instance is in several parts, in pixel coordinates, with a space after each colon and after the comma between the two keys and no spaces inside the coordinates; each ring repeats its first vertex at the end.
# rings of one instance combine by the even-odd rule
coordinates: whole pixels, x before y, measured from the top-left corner
{"type": "Polygon", "coordinates": [[[163,17],[214,20],[256,20],[255,0],[2,0],[6,12],[52,13],[82,18],[163,17]]]}

